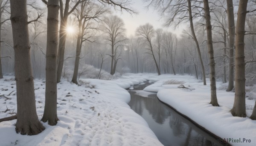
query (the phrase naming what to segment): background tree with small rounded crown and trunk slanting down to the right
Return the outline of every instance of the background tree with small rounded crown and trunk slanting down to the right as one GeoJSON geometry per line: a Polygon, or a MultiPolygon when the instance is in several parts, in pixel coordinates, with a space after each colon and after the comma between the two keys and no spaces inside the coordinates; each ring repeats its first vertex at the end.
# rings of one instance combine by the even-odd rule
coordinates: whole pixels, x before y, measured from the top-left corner
{"type": "Polygon", "coordinates": [[[136,35],[140,38],[142,38],[146,44],[147,44],[147,49],[150,53],[148,54],[151,54],[153,59],[154,59],[154,63],[156,65],[156,68],[157,68],[157,74],[160,75],[160,69],[157,65],[157,60],[155,58],[155,55],[154,55],[154,51],[153,51],[153,46],[152,46],[152,39],[154,37],[154,28],[151,24],[149,23],[146,23],[145,25],[142,25],[142,26],[139,26],[136,30],[136,35]]]}

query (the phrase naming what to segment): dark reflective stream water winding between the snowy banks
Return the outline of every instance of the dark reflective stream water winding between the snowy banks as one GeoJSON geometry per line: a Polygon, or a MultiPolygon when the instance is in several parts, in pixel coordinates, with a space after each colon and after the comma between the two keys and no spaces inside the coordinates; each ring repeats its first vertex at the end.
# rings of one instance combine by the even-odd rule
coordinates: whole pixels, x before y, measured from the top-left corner
{"type": "MultiPolygon", "coordinates": [[[[143,90],[146,86],[134,86],[134,90],[143,90]]],[[[179,115],[169,106],[161,103],[155,93],[142,97],[129,90],[129,106],[142,116],[158,140],[165,146],[224,146],[217,139],[179,115]]]]}

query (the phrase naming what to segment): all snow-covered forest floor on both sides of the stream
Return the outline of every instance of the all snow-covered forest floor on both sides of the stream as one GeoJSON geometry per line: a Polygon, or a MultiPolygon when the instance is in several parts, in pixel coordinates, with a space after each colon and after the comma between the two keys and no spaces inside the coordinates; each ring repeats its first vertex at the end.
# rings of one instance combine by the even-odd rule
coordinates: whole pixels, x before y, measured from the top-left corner
{"type": "MultiPolygon", "coordinates": [[[[137,115],[127,103],[127,90],[133,85],[149,80],[155,82],[144,91],[158,92],[157,96],[178,112],[194,120],[221,138],[243,138],[250,143],[233,143],[234,146],[256,145],[256,121],[248,117],[255,103],[256,86],[247,87],[246,108],[248,117],[233,117],[234,92],[226,92],[226,83],[217,82],[220,107],[209,105],[210,87],[200,80],[185,75],[126,74],[116,80],[81,79],[81,86],[61,81],[58,83],[58,124],[49,126],[38,135],[26,136],[15,132],[16,120],[0,123],[0,146],[161,146],[148,128],[145,120],[137,115]],[[166,80],[182,81],[166,84],[166,80]],[[183,84],[189,89],[179,89],[183,84]],[[253,92],[254,90],[254,92],[253,92]]],[[[44,80],[35,80],[35,100],[39,120],[44,113],[44,80]]],[[[17,112],[16,83],[14,77],[0,80],[0,118],[17,112]]]]}

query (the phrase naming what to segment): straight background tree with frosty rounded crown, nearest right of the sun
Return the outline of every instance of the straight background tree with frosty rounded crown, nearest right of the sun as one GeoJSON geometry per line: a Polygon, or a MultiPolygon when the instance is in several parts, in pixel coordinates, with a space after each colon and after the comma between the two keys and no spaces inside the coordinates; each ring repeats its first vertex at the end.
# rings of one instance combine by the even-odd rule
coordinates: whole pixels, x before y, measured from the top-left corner
{"type": "Polygon", "coordinates": [[[111,15],[110,17],[105,17],[104,19],[104,26],[102,26],[102,29],[104,33],[106,34],[106,40],[108,40],[109,45],[111,46],[111,54],[109,55],[111,57],[111,72],[110,74],[115,74],[116,71],[116,64],[120,58],[120,53],[118,53],[117,49],[119,47],[123,46],[123,43],[125,42],[125,23],[123,20],[116,15],[111,15]]]}

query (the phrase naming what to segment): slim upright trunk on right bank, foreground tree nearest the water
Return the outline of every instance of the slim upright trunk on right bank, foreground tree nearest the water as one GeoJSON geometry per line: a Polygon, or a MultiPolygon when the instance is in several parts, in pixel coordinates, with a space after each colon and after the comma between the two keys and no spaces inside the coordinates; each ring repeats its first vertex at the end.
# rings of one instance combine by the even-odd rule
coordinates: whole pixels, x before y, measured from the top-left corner
{"type": "Polygon", "coordinates": [[[215,61],[214,61],[214,51],[212,46],[212,25],[211,16],[209,9],[208,0],[204,0],[204,17],[205,25],[207,31],[207,48],[209,54],[209,66],[210,66],[210,86],[211,86],[211,102],[212,106],[219,106],[216,94],[216,80],[215,80],[215,61]]]}

